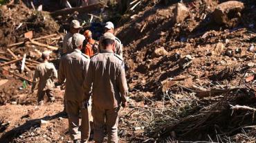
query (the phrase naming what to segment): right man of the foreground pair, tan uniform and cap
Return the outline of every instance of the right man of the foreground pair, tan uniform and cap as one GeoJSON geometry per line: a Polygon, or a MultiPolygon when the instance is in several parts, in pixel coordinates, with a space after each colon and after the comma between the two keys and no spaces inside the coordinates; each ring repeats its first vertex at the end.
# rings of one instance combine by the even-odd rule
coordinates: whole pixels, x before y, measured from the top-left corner
{"type": "Polygon", "coordinates": [[[87,99],[92,86],[93,139],[96,143],[103,142],[104,124],[107,126],[107,142],[118,142],[118,112],[120,105],[127,106],[125,65],[122,58],[113,53],[115,40],[109,32],[102,36],[103,50],[91,57],[83,84],[87,99]]]}

